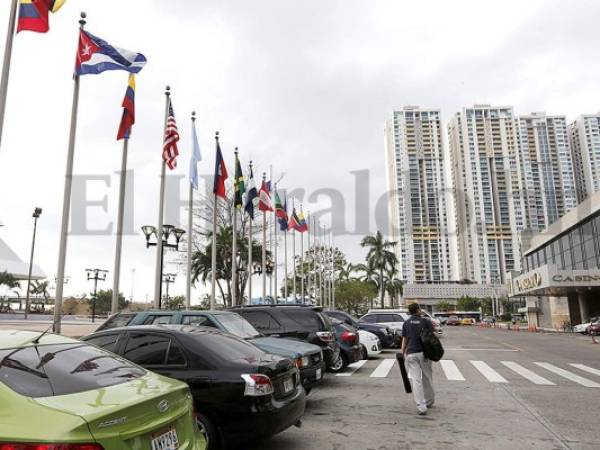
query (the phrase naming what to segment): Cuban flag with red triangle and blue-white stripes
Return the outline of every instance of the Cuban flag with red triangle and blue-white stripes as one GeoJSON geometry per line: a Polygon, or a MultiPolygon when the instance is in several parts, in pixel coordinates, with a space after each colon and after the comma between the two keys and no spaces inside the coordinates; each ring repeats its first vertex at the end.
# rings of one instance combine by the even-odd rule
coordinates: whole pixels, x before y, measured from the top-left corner
{"type": "Polygon", "coordinates": [[[79,34],[75,75],[99,74],[107,70],[138,73],[145,64],[146,57],[141,53],[113,47],[84,30],[79,34]]]}

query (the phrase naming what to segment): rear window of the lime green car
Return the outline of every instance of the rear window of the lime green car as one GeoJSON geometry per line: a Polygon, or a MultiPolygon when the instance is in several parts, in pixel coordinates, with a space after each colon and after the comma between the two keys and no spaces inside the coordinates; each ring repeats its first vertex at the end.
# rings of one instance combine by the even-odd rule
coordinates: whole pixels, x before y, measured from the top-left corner
{"type": "Polygon", "coordinates": [[[88,344],[0,350],[0,382],[27,397],[76,394],[125,383],[145,373],[88,344]]]}

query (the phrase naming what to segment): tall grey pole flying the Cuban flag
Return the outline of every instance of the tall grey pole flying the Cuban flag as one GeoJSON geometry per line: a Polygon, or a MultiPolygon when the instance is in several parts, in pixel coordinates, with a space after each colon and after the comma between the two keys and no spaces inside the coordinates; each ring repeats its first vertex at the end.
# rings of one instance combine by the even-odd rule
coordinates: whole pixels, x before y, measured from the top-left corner
{"type": "MultiPolygon", "coordinates": [[[[81,13],[79,32],[85,26],[86,14],[81,13]]],[[[4,79],[4,77],[3,77],[4,79]]],[[[6,80],[8,83],[8,79],[6,80]]],[[[67,150],[67,168],[65,171],[65,186],[63,192],[63,210],[60,226],[60,243],[58,247],[58,269],[56,274],[56,296],[54,299],[53,330],[60,334],[62,319],[62,297],[65,279],[65,262],[67,256],[67,235],[69,232],[69,215],[71,212],[71,185],[73,182],[73,161],[75,159],[75,137],[77,133],[77,112],[79,109],[79,75],[73,77],[73,103],[71,105],[71,128],[69,130],[69,146],[67,150]]]]}

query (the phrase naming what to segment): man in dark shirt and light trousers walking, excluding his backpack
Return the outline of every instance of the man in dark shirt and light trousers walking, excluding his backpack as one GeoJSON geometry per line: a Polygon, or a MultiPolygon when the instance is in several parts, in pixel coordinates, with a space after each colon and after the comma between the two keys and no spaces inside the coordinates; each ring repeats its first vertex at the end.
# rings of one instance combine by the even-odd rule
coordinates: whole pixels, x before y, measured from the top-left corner
{"type": "Polygon", "coordinates": [[[433,326],[427,317],[421,317],[418,304],[408,305],[408,312],[410,318],[404,322],[402,327],[402,354],[408,374],[412,379],[418,413],[420,416],[424,416],[427,414],[427,408],[433,406],[435,393],[433,392],[431,361],[426,359],[423,354],[421,330],[427,328],[433,331],[433,326]]]}

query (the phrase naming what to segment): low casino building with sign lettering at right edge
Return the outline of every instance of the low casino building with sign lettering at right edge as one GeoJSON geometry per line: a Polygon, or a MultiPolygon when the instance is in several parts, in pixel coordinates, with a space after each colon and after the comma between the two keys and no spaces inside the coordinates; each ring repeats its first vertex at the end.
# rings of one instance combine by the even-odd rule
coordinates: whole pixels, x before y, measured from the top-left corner
{"type": "Polygon", "coordinates": [[[600,315],[600,192],[523,247],[522,272],[507,286],[509,296],[526,298],[530,324],[561,328],[600,315]]]}

